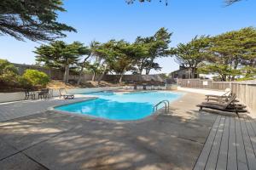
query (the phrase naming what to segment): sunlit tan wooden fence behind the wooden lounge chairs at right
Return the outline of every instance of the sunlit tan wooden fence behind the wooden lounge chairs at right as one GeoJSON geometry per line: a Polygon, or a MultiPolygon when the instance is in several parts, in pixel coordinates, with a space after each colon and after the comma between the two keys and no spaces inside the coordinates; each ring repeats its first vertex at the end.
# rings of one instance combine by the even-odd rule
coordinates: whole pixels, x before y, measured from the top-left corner
{"type": "Polygon", "coordinates": [[[177,79],[177,84],[183,88],[205,88],[224,90],[230,88],[237,98],[246,104],[256,114],[256,80],[244,82],[214,82],[201,79],[177,79]]]}

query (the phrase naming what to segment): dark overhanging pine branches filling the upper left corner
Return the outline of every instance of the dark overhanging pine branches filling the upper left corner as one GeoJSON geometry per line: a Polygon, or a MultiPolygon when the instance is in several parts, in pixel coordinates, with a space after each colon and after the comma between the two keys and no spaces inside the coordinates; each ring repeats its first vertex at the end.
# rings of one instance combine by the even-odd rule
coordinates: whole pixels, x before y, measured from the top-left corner
{"type": "Polygon", "coordinates": [[[1,0],[0,35],[18,40],[53,41],[66,37],[63,31],[76,31],[57,22],[58,12],[64,12],[61,0],[1,0]]]}

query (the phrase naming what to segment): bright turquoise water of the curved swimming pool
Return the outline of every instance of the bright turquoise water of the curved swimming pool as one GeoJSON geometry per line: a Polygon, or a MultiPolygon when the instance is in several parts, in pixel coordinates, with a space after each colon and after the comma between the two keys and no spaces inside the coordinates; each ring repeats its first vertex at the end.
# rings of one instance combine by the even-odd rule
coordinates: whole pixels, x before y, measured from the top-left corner
{"type": "MultiPolygon", "coordinates": [[[[173,101],[182,94],[171,92],[146,93],[91,93],[98,99],[55,107],[58,111],[68,111],[87,116],[96,116],[110,120],[131,121],[143,119],[153,114],[153,107],[163,99],[173,101]]],[[[160,105],[160,107],[163,105],[160,105]]]]}

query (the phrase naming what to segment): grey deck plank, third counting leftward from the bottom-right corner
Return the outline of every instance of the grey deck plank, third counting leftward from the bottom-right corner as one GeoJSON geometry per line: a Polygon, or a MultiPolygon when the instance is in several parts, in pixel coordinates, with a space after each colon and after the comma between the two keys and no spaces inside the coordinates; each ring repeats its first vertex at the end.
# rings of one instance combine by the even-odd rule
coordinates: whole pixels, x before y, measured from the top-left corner
{"type": "Polygon", "coordinates": [[[229,152],[228,152],[228,170],[237,169],[236,160],[236,126],[235,118],[230,117],[230,139],[229,139],[229,152]]]}

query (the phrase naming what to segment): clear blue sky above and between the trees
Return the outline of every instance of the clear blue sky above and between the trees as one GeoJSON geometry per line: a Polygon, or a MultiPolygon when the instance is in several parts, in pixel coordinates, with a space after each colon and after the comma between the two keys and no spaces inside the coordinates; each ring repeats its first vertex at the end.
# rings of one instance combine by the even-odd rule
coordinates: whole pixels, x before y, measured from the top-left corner
{"type": "MultiPolygon", "coordinates": [[[[125,0],[64,0],[66,13],[59,20],[75,27],[78,33],[67,33],[66,42],[89,44],[96,40],[125,39],[151,36],[160,27],[173,32],[172,43],[189,42],[196,35],[217,35],[224,31],[255,26],[256,1],[247,0],[224,7],[224,0],[168,0],[166,7],[159,0],[152,3],[128,5],[125,0]]],[[[0,37],[0,58],[20,64],[35,63],[32,51],[40,43],[20,42],[13,37],[0,37]]],[[[177,70],[178,65],[169,58],[158,59],[161,72],[177,70]]],[[[152,73],[155,73],[152,71],[152,73]]]]}

